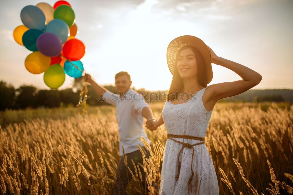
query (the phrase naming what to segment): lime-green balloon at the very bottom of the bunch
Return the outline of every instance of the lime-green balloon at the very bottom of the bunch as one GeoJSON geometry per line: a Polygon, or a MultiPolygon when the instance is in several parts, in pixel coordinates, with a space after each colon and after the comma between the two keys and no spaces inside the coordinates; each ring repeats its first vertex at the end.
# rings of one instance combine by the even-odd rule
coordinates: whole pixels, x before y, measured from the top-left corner
{"type": "Polygon", "coordinates": [[[59,64],[51,65],[44,73],[44,82],[51,89],[57,89],[65,81],[65,72],[59,64]]]}

